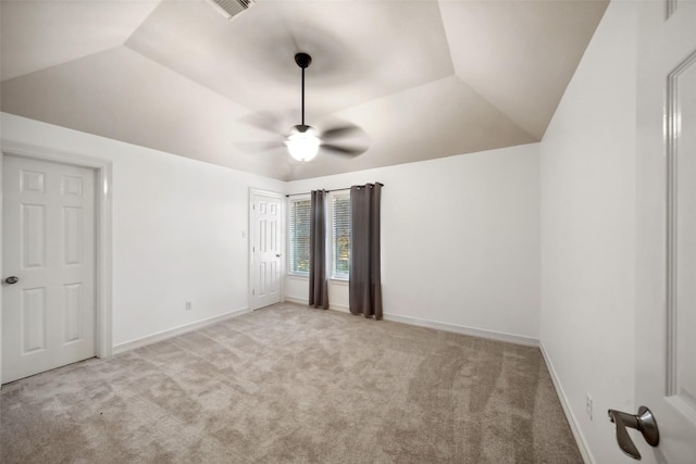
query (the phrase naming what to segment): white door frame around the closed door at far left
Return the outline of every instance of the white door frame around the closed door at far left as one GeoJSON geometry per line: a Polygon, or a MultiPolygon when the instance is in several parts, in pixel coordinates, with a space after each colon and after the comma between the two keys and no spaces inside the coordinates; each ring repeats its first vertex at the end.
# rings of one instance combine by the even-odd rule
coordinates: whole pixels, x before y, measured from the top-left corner
{"type": "MultiPolygon", "coordinates": [[[[0,146],[0,179],[3,175],[4,156],[12,155],[49,163],[69,164],[94,170],[95,185],[95,297],[96,297],[96,355],[110,358],[113,354],[112,334],[112,163],[96,156],[52,150],[46,147],[30,146],[2,140],[0,146]]],[[[0,275],[2,272],[2,218],[4,186],[0,180],[0,275]]],[[[3,289],[0,286],[0,312],[2,311],[3,289]]],[[[2,384],[2,318],[0,317],[0,385],[2,384]]]]}

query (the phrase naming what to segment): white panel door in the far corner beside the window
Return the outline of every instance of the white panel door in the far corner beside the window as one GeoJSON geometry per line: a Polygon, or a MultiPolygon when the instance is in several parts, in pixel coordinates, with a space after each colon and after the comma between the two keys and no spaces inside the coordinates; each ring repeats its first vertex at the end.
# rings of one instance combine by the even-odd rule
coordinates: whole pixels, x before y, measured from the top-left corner
{"type": "Polygon", "coordinates": [[[283,198],[253,193],[252,309],[281,302],[283,278],[283,198]]]}

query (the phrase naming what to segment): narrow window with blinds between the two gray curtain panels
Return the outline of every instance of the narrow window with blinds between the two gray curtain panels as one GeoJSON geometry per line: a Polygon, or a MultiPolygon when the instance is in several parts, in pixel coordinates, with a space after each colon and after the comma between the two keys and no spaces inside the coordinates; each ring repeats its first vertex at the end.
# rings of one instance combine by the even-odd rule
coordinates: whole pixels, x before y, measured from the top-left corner
{"type": "Polygon", "coordinates": [[[331,195],[331,276],[348,279],[350,272],[350,192],[331,195]]]}

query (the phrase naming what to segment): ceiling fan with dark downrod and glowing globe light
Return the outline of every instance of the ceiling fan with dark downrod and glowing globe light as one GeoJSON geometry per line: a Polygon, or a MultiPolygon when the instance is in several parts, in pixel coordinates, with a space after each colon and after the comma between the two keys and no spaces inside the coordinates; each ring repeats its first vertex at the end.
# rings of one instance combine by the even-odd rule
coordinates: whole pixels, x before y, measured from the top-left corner
{"type": "MultiPolygon", "coordinates": [[[[290,156],[302,162],[312,160],[320,149],[345,156],[357,156],[364,153],[368,150],[365,142],[366,134],[356,125],[341,124],[319,131],[316,128],[304,124],[304,70],[312,63],[312,57],[308,53],[299,52],[295,54],[295,62],[302,71],[301,123],[290,128],[287,136],[284,136],[281,145],[287,148],[290,156]],[[344,139],[343,141],[340,140],[341,138],[344,139]],[[352,140],[353,145],[347,143],[346,138],[352,140]]],[[[269,117],[266,116],[264,120],[265,121],[247,120],[247,123],[269,130],[270,128],[266,124],[269,117]]],[[[273,142],[268,146],[266,149],[277,147],[278,143],[273,142]]]]}

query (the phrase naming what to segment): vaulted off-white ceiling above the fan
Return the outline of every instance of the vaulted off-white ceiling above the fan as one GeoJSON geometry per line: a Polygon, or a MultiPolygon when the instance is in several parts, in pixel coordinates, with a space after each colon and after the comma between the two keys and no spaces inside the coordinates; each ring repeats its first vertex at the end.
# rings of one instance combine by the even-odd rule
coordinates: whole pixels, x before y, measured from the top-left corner
{"type": "Polygon", "coordinates": [[[540,140],[605,0],[2,0],[0,108],[284,180],[540,140]],[[291,160],[299,124],[359,156],[291,160]],[[264,125],[269,130],[259,126],[264,125]],[[275,147],[275,148],[270,148],[275,147]]]}

